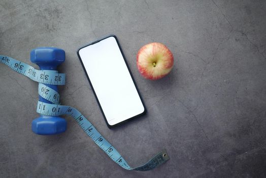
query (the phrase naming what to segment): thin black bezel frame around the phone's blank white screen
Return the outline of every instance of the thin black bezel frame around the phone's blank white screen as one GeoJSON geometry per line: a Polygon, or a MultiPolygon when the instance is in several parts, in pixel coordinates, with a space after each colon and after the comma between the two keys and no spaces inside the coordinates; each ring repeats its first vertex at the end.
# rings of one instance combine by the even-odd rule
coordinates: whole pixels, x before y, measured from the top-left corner
{"type": "Polygon", "coordinates": [[[109,129],[113,129],[113,128],[117,127],[117,126],[120,126],[121,124],[124,124],[124,123],[127,123],[127,122],[133,120],[134,118],[137,118],[137,117],[139,117],[139,116],[141,116],[141,115],[146,114],[147,109],[146,109],[146,106],[145,106],[145,104],[144,104],[144,102],[143,102],[142,96],[141,96],[141,94],[140,94],[140,92],[139,92],[139,88],[138,88],[138,86],[137,86],[137,84],[136,84],[136,82],[135,82],[135,79],[134,79],[134,77],[133,77],[133,75],[132,75],[132,73],[131,73],[131,71],[130,71],[130,69],[129,69],[129,66],[128,66],[127,62],[126,62],[126,59],[125,59],[124,53],[123,53],[123,51],[122,51],[122,48],[121,48],[121,46],[120,46],[120,44],[119,44],[119,41],[118,41],[118,39],[117,39],[117,37],[116,37],[115,35],[109,35],[109,36],[104,37],[104,38],[102,38],[102,39],[99,39],[99,40],[97,40],[97,41],[91,42],[91,43],[89,43],[89,44],[87,44],[87,45],[85,45],[85,46],[82,46],[82,47],[80,47],[80,48],[77,50],[77,54],[78,54],[79,60],[80,60],[80,62],[81,62],[81,65],[82,65],[82,67],[83,67],[83,70],[84,70],[84,72],[85,72],[85,74],[86,74],[86,76],[87,76],[87,79],[88,79],[88,81],[89,81],[89,84],[90,84],[90,86],[91,86],[92,92],[93,92],[93,94],[94,94],[94,96],[95,96],[95,98],[96,98],[96,101],[97,101],[97,103],[98,103],[98,106],[99,106],[99,108],[101,109],[101,112],[102,112],[102,114],[103,114],[103,116],[104,116],[105,122],[106,122],[106,124],[107,124],[107,126],[108,126],[109,129]],[[102,41],[102,40],[105,40],[105,39],[107,39],[107,38],[110,38],[110,37],[114,37],[115,40],[116,40],[116,42],[117,42],[117,44],[118,44],[118,47],[119,47],[119,49],[120,49],[120,52],[121,52],[121,54],[122,54],[122,56],[123,56],[123,58],[124,58],[124,62],[125,62],[125,64],[126,64],[127,70],[129,71],[129,74],[130,74],[130,76],[131,76],[131,79],[132,79],[132,81],[133,81],[133,83],[134,83],[134,85],[135,85],[135,87],[136,87],[136,89],[137,89],[137,92],[138,92],[138,94],[139,94],[139,96],[140,96],[140,99],[141,99],[142,105],[143,105],[143,107],[144,107],[144,111],[143,111],[142,113],[140,113],[140,114],[138,114],[138,115],[135,115],[135,116],[133,116],[133,117],[127,118],[126,120],[124,120],[124,121],[122,121],[122,122],[120,122],[120,123],[117,123],[117,124],[115,124],[115,125],[109,125],[109,123],[107,122],[107,119],[106,119],[105,113],[104,113],[104,111],[103,111],[103,108],[102,108],[101,104],[99,103],[99,100],[98,100],[98,98],[97,98],[97,95],[96,95],[96,93],[95,93],[95,91],[94,91],[94,88],[93,88],[93,86],[92,86],[92,83],[91,83],[91,81],[90,81],[90,79],[89,79],[89,76],[88,76],[88,74],[87,74],[87,71],[86,71],[86,69],[85,69],[85,67],[84,67],[84,64],[83,64],[83,62],[82,62],[82,60],[81,60],[81,57],[80,57],[80,55],[79,55],[79,51],[80,51],[82,48],[87,47],[87,46],[92,45],[92,44],[95,44],[95,43],[98,43],[98,42],[100,42],[100,41],[102,41]]]}

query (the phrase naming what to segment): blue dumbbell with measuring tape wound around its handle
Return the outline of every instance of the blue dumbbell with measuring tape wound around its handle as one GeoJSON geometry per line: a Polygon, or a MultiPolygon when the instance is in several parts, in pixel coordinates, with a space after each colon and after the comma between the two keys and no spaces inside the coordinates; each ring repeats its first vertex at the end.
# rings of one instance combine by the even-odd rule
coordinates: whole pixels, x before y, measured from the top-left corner
{"type": "MultiPolygon", "coordinates": [[[[56,70],[57,66],[65,60],[65,52],[62,49],[53,47],[40,47],[32,49],[30,52],[30,61],[37,64],[41,70],[56,70]]],[[[45,84],[55,91],[57,85],[45,84]]],[[[42,98],[39,95],[39,100],[45,103],[50,101],[42,98]]],[[[59,116],[44,116],[36,118],[31,123],[31,129],[39,135],[59,134],[67,130],[67,122],[59,116]]]]}

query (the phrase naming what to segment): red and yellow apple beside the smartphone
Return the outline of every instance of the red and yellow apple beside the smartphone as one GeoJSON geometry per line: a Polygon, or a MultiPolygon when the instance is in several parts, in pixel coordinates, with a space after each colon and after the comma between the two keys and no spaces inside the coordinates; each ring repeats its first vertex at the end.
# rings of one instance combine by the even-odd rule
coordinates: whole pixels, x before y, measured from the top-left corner
{"type": "Polygon", "coordinates": [[[157,80],[167,75],[173,68],[174,57],[167,46],[161,43],[149,43],[137,54],[137,66],[141,75],[157,80]]]}

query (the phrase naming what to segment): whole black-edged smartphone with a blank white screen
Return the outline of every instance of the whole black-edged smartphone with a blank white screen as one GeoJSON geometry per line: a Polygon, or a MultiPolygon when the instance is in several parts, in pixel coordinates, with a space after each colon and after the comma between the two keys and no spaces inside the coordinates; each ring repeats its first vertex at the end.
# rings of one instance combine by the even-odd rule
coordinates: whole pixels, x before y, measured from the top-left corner
{"type": "Polygon", "coordinates": [[[146,113],[115,35],[81,47],[77,53],[110,129],[146,113]]]}

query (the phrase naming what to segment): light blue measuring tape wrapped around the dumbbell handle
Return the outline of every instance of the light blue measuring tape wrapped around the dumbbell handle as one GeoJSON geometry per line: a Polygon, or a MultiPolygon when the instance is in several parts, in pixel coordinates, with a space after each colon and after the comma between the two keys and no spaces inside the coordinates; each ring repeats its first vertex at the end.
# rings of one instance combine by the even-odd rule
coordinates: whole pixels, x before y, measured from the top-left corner
{"type": "Polygon", "coordinates": [[[130,167],[124,158],[118,153],[114,146],[109,143],[87,120],[87,118],[82,115],[77,109],[71,106],[62,106],[59,104],[59,94],[49,86],[45,84],[52,85],[64,85],[65,84],[65,74],[60,74],[58,71],[51,70],[37,70],[23,62],[17,61],[12,57],[5,55],[0,55],[0,61],[5,65],[9,66],[14,71],[27,76],[31,80],[39,82],[38,93],[41,97],[52,102],[53,104],[44,103],[38,101],[37,112],[42,115],[49,116],[59,116],[62,114],[71,115],[75,121],[79,124],[81,129],[99,146],[101,149],[118,165],[127,170],[139,170],[147,171],[151,170],[164,162],[168,161],[170,158],[165,150],[162,150],[157,155],[155,155],[151,160],[142,166],[136,168],[130,167]]]}

